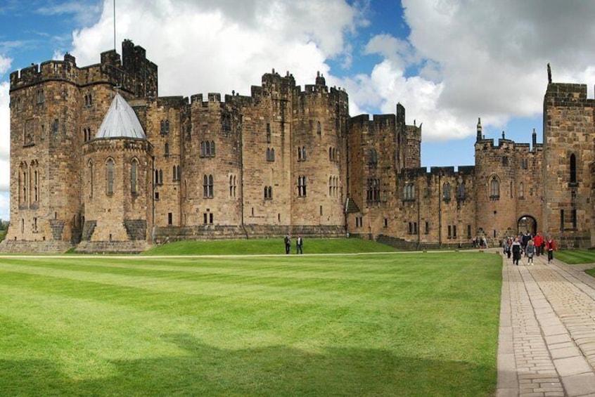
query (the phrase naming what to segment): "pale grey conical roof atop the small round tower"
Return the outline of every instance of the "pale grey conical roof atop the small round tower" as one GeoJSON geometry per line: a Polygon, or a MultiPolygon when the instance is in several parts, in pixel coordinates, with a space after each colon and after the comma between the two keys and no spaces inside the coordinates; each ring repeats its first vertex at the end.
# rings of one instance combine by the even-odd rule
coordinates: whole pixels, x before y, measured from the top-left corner
{"type": "Polygon", "coordinates": [[[146,139],[147,136],[134,110],[119,93],[116,93],[95,138],[146,139]]]}

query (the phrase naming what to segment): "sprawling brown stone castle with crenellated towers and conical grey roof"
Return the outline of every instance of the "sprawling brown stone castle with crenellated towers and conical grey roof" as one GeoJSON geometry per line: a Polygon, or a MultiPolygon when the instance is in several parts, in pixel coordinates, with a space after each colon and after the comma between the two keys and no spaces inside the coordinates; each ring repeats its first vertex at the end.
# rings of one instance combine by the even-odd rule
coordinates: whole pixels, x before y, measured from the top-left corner
{"type": "MultiPolygon", "coordinates": [[[[132,41],[78,67],[11,73],[11,226],[4,252],[141,252],[174,240],[359,236],[410,247],[524,230],[592,247],[595,101],[552,83],[543,143],[485,139],[475,166],[421,164],[421,126],[350,117],[347,93],[274,70],[250,96],[158,96],[132,41]]],[[[415,124],[415,123],[414,123],[415,124]]]]}

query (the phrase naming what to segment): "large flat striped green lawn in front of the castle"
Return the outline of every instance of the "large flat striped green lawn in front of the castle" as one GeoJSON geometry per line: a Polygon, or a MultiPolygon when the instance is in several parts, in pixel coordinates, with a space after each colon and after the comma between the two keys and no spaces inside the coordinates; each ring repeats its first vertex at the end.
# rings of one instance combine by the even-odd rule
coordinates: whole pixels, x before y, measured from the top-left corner
{"type": "Polygon", "coordinates": [[[471,252],[4,258],[0,395],[493,396],[500,289],[471,252]]]}

